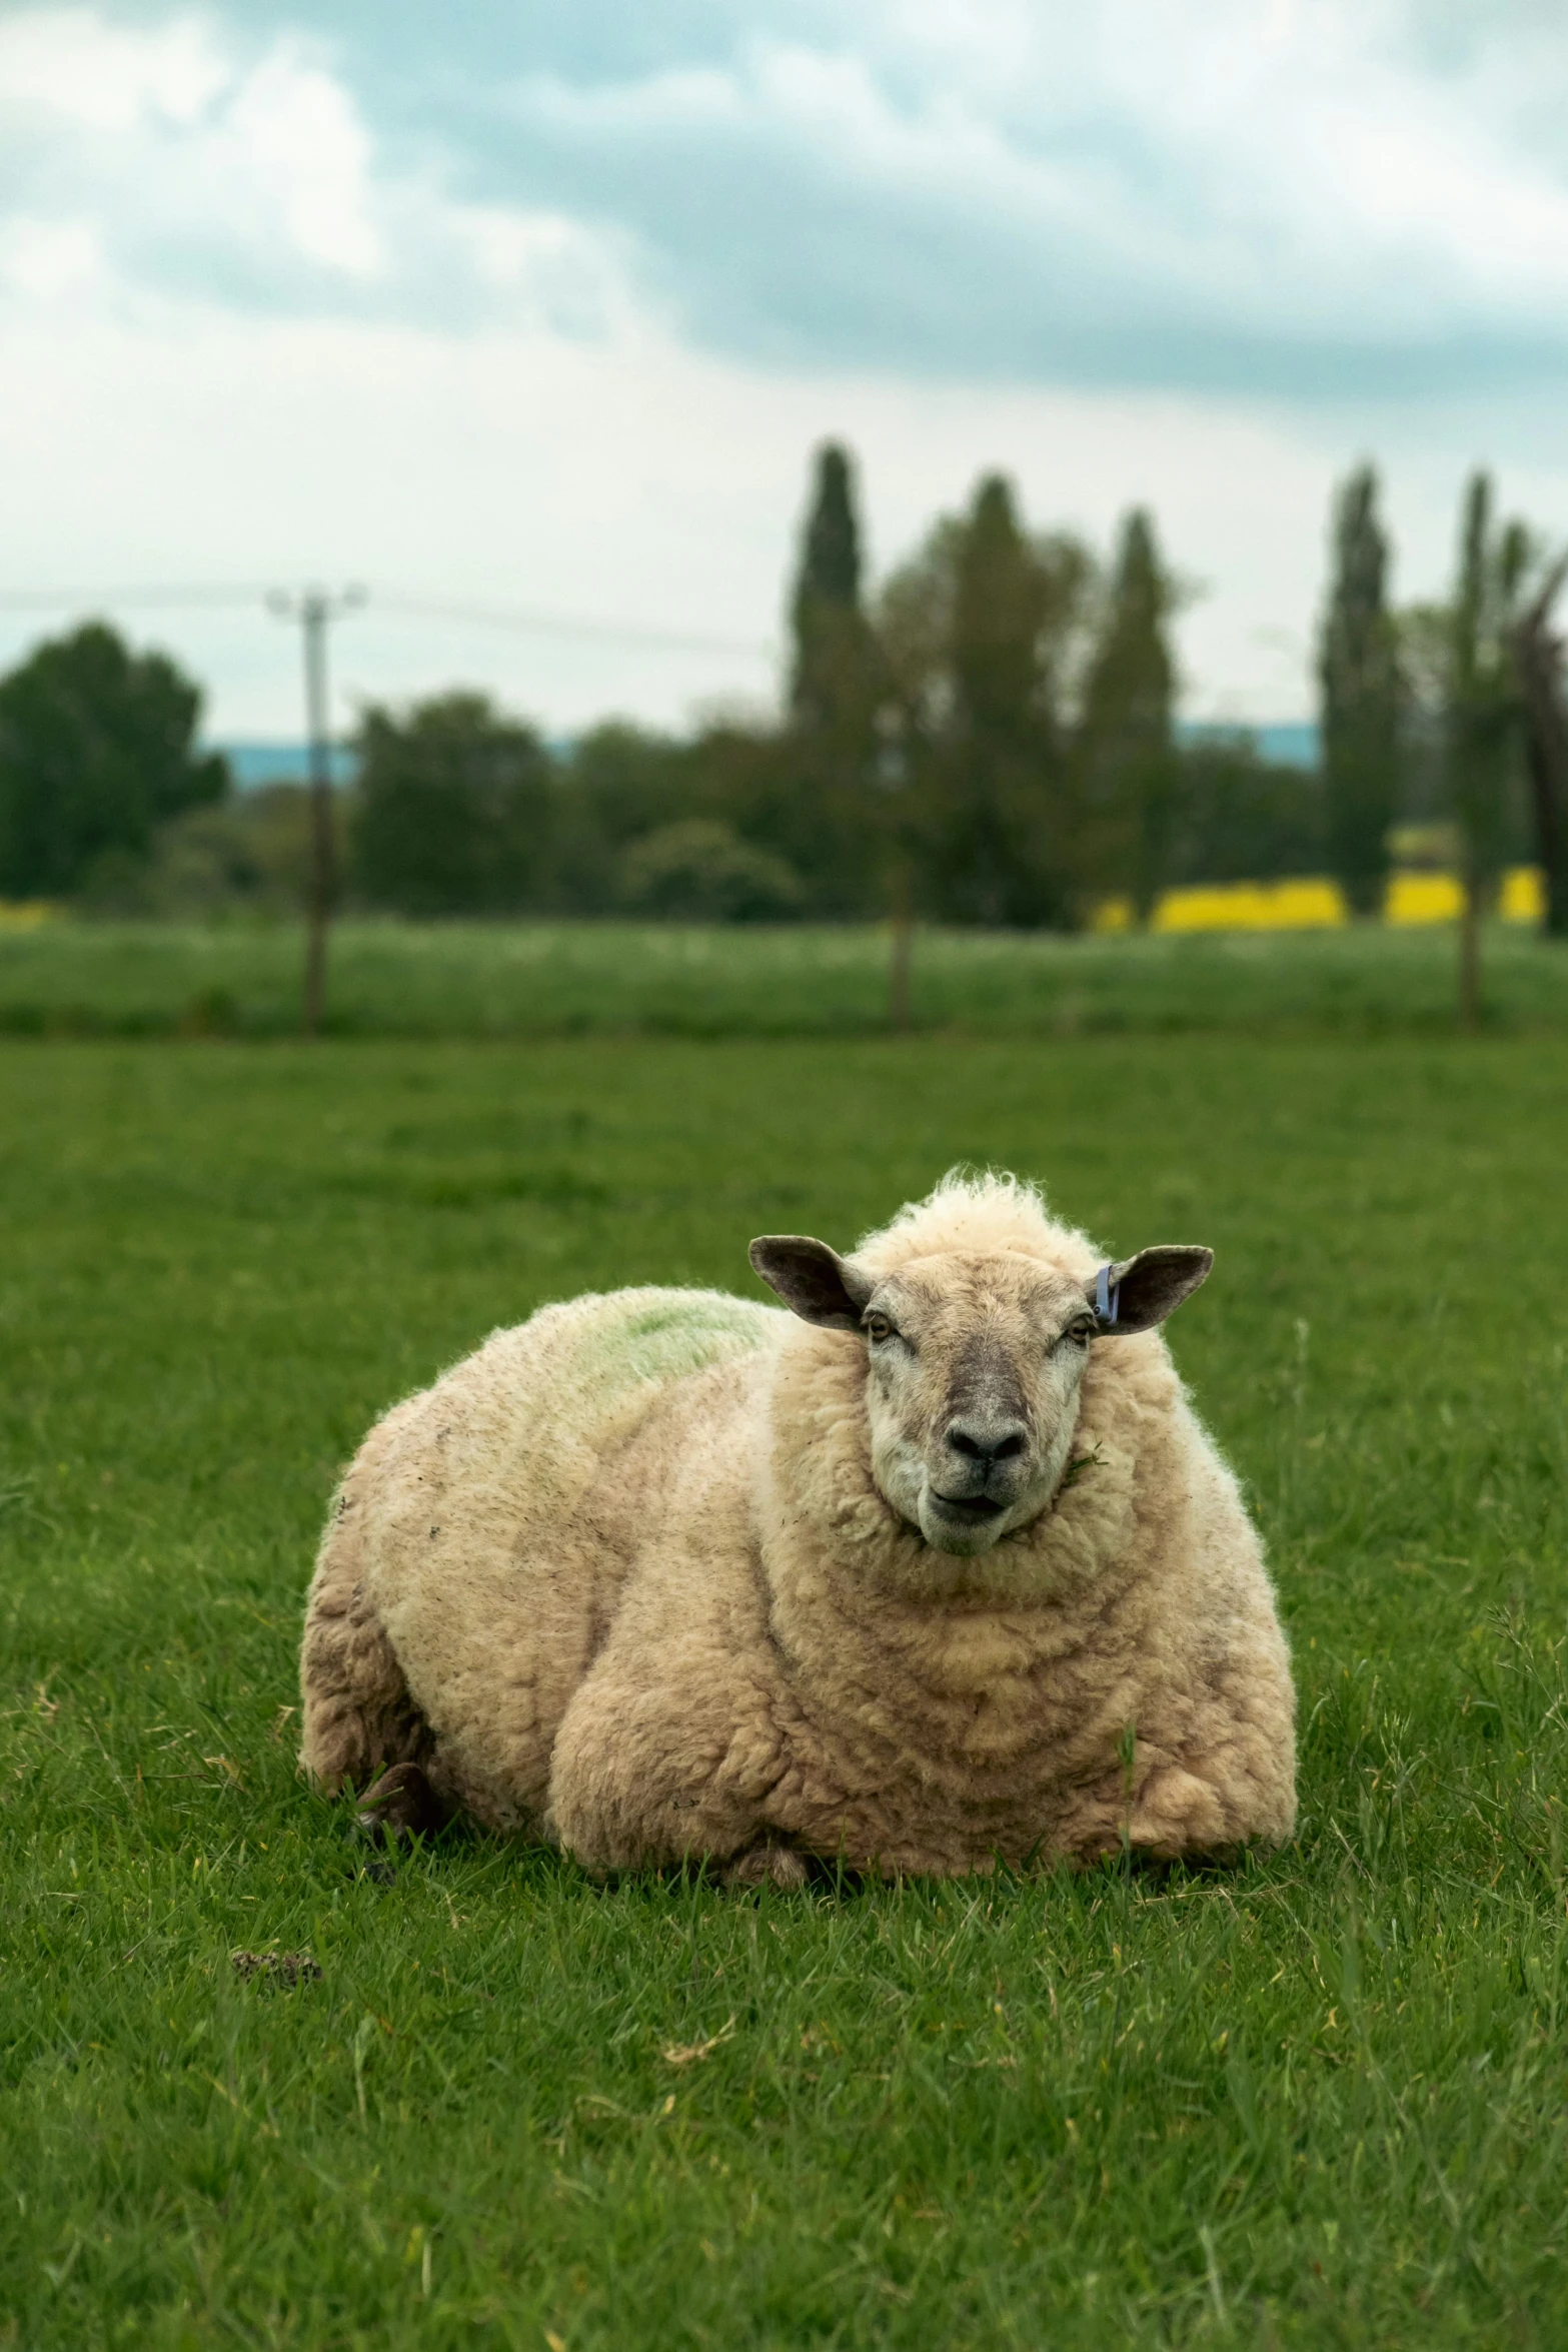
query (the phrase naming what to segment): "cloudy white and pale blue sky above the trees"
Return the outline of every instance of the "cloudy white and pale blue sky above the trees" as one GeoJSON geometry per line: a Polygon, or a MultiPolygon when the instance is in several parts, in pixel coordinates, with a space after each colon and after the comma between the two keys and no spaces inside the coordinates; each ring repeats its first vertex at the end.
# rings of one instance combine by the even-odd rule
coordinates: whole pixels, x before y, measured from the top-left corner
{"type": "MultiPolygon", "coordinates": [[[[1152,503],[1187,710],[1307,715],[1352,459],[1401,595],[1476,461],[1568,539],[1563,120],[1547,0],[0,0],[0,597],[355,579],[343,722],[679,724],[773,694],[839,435],[877,569],[990,466],[1152,503]]],[[[259,600],[125,619],[299,731],[259,600]]]]}

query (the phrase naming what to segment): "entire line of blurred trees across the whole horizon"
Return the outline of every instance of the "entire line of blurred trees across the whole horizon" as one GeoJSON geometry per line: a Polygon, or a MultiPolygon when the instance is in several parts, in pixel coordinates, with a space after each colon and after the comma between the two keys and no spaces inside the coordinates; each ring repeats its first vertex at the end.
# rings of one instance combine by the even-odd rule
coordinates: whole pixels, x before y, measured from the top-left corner
{"type": "MultiPolygon", "coordinates": [[[[1110,562],[1032,532],[1001,475],[870,595],[849,454],[818,452],[773,724],[604,724],[550,748],[480,694],[369,708],[346,804],[353,898],[409,915],[705,920],[924,913],[1072,927],[1117,894],[1331,870],[1375,913],[1399,818],[1458,828],[1469,901],[1535,851],[1568,924],[1563,567],[1467,492],[1450,602],[1396,612],[1378,482],[1335,501],[1324,762],[1178,736],[1180,583],[1133,510],[1110,562]],[[1523,781],[1533,783],[1533,800],[1523,781]],[[1556,826],[1556,833],[1552,830],[1556,826]]],[[[0,680],[0,896],[287,901],[303,795],[233,795],[200,691],[89,623],[0,680]]]]}

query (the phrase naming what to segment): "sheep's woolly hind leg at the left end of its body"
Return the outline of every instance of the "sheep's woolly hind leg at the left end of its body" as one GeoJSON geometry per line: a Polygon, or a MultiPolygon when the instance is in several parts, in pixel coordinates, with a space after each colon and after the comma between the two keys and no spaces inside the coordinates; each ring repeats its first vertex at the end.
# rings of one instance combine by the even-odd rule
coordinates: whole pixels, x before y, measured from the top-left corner
{"type": "MultiPolygon", "coordinates": [[[[301,1698],[301,1762],[327,1795],[367,1788],[388,1764],[430,1757],[430,1726],[364,1588],[364,1545],[348,1482],[310,1583],[301,1698]]],[[[409,1802],[404,1795],[402,1804],[409,1802]]]]}

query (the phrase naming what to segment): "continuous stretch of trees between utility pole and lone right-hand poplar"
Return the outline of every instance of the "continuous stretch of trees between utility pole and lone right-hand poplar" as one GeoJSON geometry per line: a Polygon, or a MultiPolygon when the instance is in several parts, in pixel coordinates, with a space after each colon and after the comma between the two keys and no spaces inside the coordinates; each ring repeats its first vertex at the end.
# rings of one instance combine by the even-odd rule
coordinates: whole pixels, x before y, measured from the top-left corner
{"type": "Polygon", "coordinates": [[[644,913],[1072,924],[1110,889],[1300,870],[1316,786],[1178,746],[1147,515],[1107,576],[992,475],[865,595],[853,473],[818,452],[778,724],[625,724],[552,755],[475,694],[371,708],[350,875],[409,915],[644,913]]]}

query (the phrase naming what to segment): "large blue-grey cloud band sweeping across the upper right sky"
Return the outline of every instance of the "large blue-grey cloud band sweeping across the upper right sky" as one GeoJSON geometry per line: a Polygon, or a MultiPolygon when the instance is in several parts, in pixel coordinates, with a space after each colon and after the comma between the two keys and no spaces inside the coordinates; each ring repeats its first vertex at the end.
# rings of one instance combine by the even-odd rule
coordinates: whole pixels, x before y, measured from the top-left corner
{"type": "MultiPolygon", "coordinates": [[[[223,21],[254,49],[301,19],[249,0],[223,21]]],[[[228,301],[465,327],[517,296],[470,268],[442,205],[548,209],[689,339],[788,367],[1312,402],[1528,388],[1563,367],[1552,221],[1561,207],[1568,230],[1568,183],[1544,127],[1568,99],[1568,35],[1549,9],[1500,5],[1486,31],[1458,0],[1319,12],[1349,42],[1342,96],[1331,75],[1316,89],[1324,136],[1373,155],[1389,141],[1387,188],[1361,162],[1361,214],[1291,115],[1267,12],[1229,113],[1201,75],[1150,94],[1084,21],[1006,0],[976,0],[969,35],[893,0],[449,0],[440,19],[421,0],[327,0],[308,38],[364,113],[395,266],[350,282],[263,223],[136,207],[110,235],[141,275],[228,301]],[[813,73],[842,125],[813,122],[813,73]],[[1276,146],[1248,103],[1281,108],[1276,146]],[[1476,202],[1493,183],[1516,198],[1547,259],[1476,259],[1458,202],[1448,226],[1441,202],[1401,212],[1396,176],[1432,172],[1441,200],[1446,153],[1476,202]]],[[[59,169],[33,169],[63,202],[59,169]]]]}

